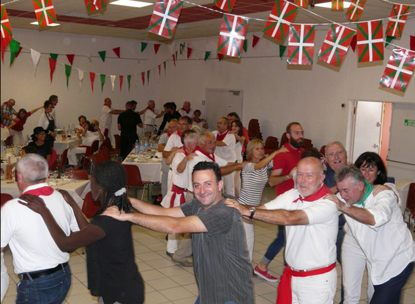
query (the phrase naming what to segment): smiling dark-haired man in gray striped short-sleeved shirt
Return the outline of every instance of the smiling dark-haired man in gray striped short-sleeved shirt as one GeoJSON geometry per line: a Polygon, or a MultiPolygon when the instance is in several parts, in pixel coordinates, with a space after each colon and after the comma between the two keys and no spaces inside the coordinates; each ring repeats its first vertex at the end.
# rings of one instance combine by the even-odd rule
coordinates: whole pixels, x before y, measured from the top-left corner
{"type": "Polygon", "coordinates": [[[180,207],[163,208],[134,198],[140,213],[108,208],[103,215],[165,233],[192,233],[193,265],[199,298],[197,304],[254,303],[252,267],[241,214],[225,204],[220,168],[199,162],[192,174],[194,196],[180,207]],[[156,215],[156,216],[154,216],[156,215]]]}

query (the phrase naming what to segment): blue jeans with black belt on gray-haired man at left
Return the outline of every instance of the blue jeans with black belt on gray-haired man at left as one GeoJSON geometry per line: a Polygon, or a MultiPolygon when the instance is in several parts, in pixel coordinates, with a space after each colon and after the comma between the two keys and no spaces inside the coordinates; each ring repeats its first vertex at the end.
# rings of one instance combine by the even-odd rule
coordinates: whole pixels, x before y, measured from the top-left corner
{"type": "Polygon", "coordinates": [[[69,264],[46,277],[21,280],[17,285],[16,304],[61,304],[71,286],[69,264]]]}

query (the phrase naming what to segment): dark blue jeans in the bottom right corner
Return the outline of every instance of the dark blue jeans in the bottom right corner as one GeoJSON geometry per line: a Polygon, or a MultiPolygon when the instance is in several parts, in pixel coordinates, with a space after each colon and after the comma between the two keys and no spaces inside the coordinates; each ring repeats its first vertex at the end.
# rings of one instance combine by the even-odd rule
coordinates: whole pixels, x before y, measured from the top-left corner
{"type": "Polygon", "coordinates": [[[399,304],[402,288],[414,269],[414,262],[409,263],[396,277],[380,285],[373,285],[374,293],[370,304],[399,304]]]}

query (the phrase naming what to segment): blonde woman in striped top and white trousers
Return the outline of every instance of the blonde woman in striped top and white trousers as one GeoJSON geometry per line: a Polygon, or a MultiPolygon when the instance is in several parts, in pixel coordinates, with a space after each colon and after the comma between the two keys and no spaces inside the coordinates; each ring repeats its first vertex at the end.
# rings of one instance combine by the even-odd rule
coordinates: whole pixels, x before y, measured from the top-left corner
{"type": "MultiPolygon", "coordinates": [[[[238,202],[245,205],[259,206],[261,203],[262,192],[268,182],[268,170],[272,169],[272,159],[278,153],[288,152],[283,147],[265,156],[264,142],[259,139],[249,141],[247,146],[247,162],[242,167],[242,187],[238,202]]],[[[247,237],[250,261],[252,261],[252,251],[255,233],[253,224],[249,220],[242,219],[247,237]]]]}

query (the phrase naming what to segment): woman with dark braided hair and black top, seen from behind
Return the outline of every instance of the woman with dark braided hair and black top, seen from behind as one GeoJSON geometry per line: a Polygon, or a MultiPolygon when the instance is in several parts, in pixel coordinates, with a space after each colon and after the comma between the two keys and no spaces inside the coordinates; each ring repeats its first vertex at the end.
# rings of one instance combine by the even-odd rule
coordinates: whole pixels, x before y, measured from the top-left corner
{"type": "Polygon", "coordinates": [[[100,297],[100,304],[140,304],[144,302],[144,283],[134,261],[131,223],[121,222],[100,214],[109,206],[131,212],[125,184],[127,176],[123,165],[107,161],[99,164],[91,176],[91,194],[101,201],[101,208],[89,223],[78,204],[64,190],[59,190],[74,209],[79,232],[66,236],[56,224],[43,200],[33,195],[22,195],[21,200],[39,213],[54,241],[62,251],[72,252],[87,246],[88,289],[100,297]]]}

